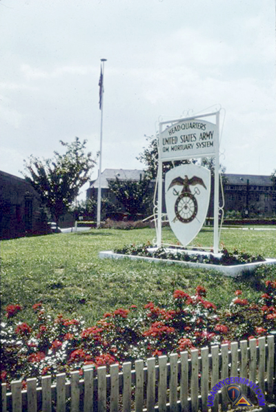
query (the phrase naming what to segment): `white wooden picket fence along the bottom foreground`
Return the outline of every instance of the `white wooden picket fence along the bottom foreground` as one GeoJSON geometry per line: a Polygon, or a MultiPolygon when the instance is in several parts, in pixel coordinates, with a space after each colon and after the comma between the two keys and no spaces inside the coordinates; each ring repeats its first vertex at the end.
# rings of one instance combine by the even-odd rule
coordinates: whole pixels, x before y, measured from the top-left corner
{"type": "MultiPolygon", "coordinates": [[[[87,367],[86,367],[87,368],[87,367]]],[[[130,362],[110,367],[85,369],[57,375],[52,385],[51,376],[42,378],[37,388],[35,378],[27,380],[27,389],[21,391],[21,382],[12,382],[11,392],[6,393],[2,384],[3,412],[178,412],[208,411],[208,394],[219,380],[237,376],[258,382],[259,388],[270,402],[276,392],[274,336],[242,342],[233,342],[221,347],[193,350],[191,356],[182,352],[180,357],[171,354],[146,362],[137,360],[135,369],[130,362]]],[[[248,387],[242,385],[242,393],[250,396],[248,387]]],[[[229,400],[222,389],[215,397],[212,411],[226,411],[229,400]]]]}

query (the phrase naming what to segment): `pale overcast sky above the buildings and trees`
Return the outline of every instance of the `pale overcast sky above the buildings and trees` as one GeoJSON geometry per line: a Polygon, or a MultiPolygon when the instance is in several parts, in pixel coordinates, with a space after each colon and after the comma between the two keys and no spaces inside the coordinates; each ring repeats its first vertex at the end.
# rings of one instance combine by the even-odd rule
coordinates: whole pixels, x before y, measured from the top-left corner
{"type": "Polygon", "coordinates": [[[275,0],[1,0],[0,38],[4,172],[75,136],[96,155],[102,58],[102,169],[143,168],[159,119],[219,107],[226,172],[276,168],[275,0]]]}

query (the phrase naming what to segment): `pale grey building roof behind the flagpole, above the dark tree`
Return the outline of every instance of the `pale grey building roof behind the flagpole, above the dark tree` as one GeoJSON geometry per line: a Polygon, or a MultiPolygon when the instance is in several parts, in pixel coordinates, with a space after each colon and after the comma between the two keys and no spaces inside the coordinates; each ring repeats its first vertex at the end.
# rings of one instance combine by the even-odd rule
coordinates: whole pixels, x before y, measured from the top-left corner
{"type": "MultiPolygon", "coordinates": [[[[121,181],[139,181],[144,177],[144,170],[139,169],[104,169],[101,173],[101,189],[108,189],[108,181],[115,181],[119,178],[121,181]]],[[[90,182],[90,189],[99,187],[99,179],[90,182]]]]}

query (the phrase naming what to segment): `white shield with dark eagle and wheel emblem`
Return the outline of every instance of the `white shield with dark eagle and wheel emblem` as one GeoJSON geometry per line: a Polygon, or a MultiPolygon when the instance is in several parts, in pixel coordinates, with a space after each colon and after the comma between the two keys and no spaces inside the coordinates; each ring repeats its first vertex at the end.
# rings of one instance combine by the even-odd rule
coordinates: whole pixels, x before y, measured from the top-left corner
{"type": "Polygon", "coordinates": [[[180,165],[165,176],[166,211],[170,227],[186,246],[197,236],[206,219],[210,200],[210,170],[180,165]]]}

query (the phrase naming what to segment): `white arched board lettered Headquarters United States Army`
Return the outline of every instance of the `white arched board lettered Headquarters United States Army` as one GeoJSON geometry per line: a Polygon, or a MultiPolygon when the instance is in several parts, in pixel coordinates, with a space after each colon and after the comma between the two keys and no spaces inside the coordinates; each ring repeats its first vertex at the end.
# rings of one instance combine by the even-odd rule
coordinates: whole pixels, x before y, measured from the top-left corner
{"type": "Polygon", "coordinates": [[[217,125],[201,119],[180,121],[161,132],[159,158],[162,161],[214,156],[217,125]]]}

